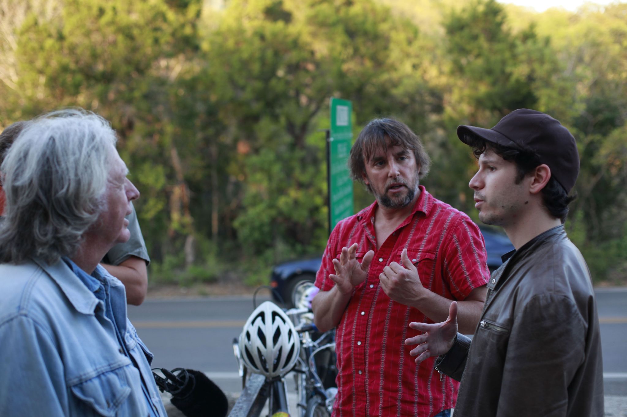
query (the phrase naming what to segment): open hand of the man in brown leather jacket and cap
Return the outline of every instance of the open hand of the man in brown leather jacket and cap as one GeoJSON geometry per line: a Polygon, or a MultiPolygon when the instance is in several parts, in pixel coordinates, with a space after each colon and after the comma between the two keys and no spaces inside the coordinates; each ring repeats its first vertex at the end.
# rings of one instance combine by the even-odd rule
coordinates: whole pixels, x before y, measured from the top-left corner
{"type": "Polygon", "coordinates": [[[409,354],[418,356],[415,362],[421,363],[430,356],[440,356],[450,351],[457,334],[457,303],[448,308],[448,318],[442,323],[409,323],[409,327],[425,333],[405,339],[405,344],[418,344],[409,354]]]}

